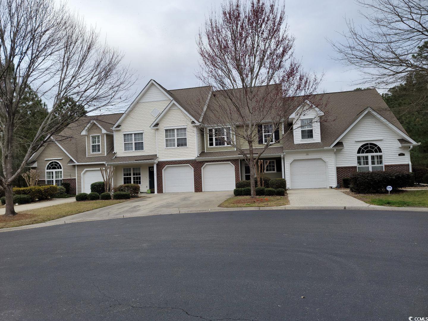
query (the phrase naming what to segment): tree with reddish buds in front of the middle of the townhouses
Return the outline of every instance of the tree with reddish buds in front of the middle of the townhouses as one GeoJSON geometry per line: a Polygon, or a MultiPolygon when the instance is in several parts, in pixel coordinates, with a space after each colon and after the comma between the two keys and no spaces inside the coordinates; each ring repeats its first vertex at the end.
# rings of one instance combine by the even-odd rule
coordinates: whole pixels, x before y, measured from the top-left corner
{"type": "Polygon", "coordinates": [[[304,103],[314,99],[321,78],[303,71],[294,58],[285,9],[275,0],[223,3],[220,12],[213,11],[206,19],[197,45],[201,58],[197,77],[214,89],[204,124],[217,127],[210,139],[223,136],[243,155],[255,197],[259,158],[292,129],[288,116],[297,107],[302,106],[298,115],[306,112],[304,103]]]}

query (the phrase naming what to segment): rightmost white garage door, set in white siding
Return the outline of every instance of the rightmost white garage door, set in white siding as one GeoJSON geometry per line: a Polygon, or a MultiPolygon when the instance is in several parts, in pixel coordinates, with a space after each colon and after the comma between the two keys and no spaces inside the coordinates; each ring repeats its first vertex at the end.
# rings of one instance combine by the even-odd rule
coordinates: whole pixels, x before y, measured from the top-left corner
{"type": "Polygon", "coordinates": [[[325,188],[327,173],[321,158],[293,160],[290,166],[291,188],[325,188]]]}

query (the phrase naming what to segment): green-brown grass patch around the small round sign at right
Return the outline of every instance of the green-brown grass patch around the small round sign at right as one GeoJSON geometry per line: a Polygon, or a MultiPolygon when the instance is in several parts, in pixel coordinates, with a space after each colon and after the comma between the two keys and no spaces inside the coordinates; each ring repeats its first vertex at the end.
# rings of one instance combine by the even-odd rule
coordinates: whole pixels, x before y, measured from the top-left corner
{"type": "Polygon", "coordinates": [[[428,207],[428,190],[403,190],[388,194],[357,194],[345,192],[372,205],[394,207],[428,207]]]}

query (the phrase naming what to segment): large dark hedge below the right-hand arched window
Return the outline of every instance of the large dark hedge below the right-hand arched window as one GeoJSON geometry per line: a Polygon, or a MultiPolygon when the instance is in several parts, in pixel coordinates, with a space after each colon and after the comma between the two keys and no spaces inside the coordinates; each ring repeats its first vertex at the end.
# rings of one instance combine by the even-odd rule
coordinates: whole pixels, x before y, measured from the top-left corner
{"type": "Polygon", "coordinates": [[[380,193],[386,186],[393,190],[413,186],[413,173],[410,172],[356,172],[350,177],[350,188],[356,193],[380,193]]]}

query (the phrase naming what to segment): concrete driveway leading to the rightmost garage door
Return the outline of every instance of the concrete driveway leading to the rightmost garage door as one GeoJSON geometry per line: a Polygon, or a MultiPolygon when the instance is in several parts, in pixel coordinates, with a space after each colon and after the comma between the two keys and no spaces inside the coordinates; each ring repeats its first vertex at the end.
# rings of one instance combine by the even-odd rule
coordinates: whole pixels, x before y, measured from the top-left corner
{"type": "Polygon", "coordinates": [[[333,188],[303,188],[287,193],[291,206],[369,206],[333,188]]]}

